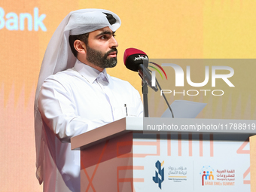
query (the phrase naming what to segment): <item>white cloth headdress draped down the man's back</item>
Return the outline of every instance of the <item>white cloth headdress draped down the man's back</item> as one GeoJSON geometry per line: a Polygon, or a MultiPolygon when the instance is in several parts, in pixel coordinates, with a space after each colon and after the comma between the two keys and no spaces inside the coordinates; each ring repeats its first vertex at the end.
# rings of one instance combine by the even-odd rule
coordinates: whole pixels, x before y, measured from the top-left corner
{"type": "Polygon", "coordinates": [[[93,32],[108,26],[113,32],[120,27],[120,18],[117,14],[103,9],[82,9],[70,12],[59,24],[53,33],[47,49],[44,53],[44,59],[41,64],[41,71],[38,78],[38,87],[35,93],[35,147],[36,147],[36,167],[37,178],[41,184],[43,181],[43,163],[44,163],[44,137],[42,134],[41,114],[38,111],[38,94],[44,80],[57,72],[72,68],[75,66],[76,58],[69,47],[69,35],[81,35],[87,32],[93,32]],[[116,22],[110,24],[106,14],[111,14],[116,22]]]}

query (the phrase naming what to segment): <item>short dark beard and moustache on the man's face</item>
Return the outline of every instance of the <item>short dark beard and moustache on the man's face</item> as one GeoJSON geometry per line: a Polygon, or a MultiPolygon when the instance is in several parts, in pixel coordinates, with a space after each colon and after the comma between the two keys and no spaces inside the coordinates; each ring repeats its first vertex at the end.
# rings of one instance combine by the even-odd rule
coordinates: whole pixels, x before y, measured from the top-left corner
{"type": "Polygon", "coordinates": [[[117,57],[108,58],[108,54],[112,52],[117,52],[117,49],[111,48],[111,50],[104,54],[100,50],[95,50],[87,45],[87,61],[102,69],[112,68],[117,65],[117,57]]]}

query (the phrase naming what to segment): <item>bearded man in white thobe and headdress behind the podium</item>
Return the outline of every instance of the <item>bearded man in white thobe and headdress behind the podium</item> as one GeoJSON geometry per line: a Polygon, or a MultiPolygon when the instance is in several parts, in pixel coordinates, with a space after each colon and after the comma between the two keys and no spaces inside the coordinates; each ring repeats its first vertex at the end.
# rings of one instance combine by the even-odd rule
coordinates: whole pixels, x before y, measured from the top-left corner
{"type": "Polygon", "coordinates": [[[111,11],[71,12],[48,44],[35,96],[37,177],[44,191],[80,191],[80,151],[70,139],[130,116],[142,117],[142,102],[128,82],[109,76],[117,64],[111,11]]]}

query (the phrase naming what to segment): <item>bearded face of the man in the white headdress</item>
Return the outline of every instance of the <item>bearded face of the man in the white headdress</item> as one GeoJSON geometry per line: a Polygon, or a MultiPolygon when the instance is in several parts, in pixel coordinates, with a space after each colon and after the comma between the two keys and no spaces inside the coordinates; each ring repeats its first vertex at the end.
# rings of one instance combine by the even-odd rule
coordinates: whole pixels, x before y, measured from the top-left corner
{"type": "Polygon", "coordinates": [[[86,59],[99,68],[112,68],[117,65],[117,46],[114,32],[109,27],[90,32],[86,59]]]}

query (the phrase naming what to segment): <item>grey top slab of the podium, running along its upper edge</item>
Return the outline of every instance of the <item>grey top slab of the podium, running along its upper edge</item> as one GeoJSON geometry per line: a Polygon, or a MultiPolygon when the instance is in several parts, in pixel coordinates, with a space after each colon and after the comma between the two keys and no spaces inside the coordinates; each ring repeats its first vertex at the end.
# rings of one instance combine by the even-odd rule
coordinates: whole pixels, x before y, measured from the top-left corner
{"type": "Polygon", "coordinates": [[[165,117],[124,117],[71,139],[72,150],[87,148],[115,136],[129,133],[221,133],[256,135],[256,120],[165,118],[165,117]],[[164,130],[165,125],[171,129],[164,130]],[[241,127],[239,125],[242,125],[241,127]],[[244,126],[245,125],[245,126],[244,126]],[[147,126],[154,127],[149,129],[147,126]],[[158,126],[158,129],[156,127],[158,126]],[[182,129],[187,127],[187,129],[182,129]],[[159,129],[161,127],[161,129],[159,129]],[[190,127],[192,127],[190,129],[190,127]],[[241,129],[240,129],[241,128],[241,129]]]}

